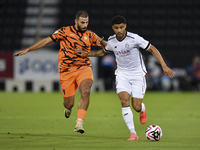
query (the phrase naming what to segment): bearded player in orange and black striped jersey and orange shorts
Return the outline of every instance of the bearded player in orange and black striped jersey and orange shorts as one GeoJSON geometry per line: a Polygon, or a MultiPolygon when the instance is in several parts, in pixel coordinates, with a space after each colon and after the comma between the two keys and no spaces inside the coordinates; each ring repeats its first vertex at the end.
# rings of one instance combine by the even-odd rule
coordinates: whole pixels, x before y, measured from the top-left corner
{"type": "Polygon", "coordinates": [[[89,57],[80,57],[74,50],[81,48],[89,53],[91,46],[101,45],[103,38],[87,29],[89,16],[85,11],[78,11],[75,17],[75,25],[58,29],[47,38],[39,40],[32,46],[17,52],[14,56],[21,56],[27,52],[42,48],[52,42],[60,41],[58,57],[60,83],[62,87],[65,107],[65,117],[69,118],[74,106],[74,97],[77,88],[80,88],[81,98],[78,104],[77,123],[75,132],[84,133],[83,120],[89,105],[90,89],[93,83],[93,74],[89,57]]]}

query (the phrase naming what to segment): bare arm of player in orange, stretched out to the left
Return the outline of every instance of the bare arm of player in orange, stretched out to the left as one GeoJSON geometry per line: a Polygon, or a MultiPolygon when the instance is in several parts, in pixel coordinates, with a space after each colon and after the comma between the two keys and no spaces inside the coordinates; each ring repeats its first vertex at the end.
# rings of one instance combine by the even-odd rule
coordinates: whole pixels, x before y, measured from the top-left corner
{"type": "Polygon", "coordinates": [[[34,43],[33,45],[31,45],[30,47],[24,49],[24,50],[21,50],[19,52],[17,52],[16,54],[14,54],[14,57],[15,56],[21,56],[21,55],[25,55],[27,52],[30,52],[30,51],[34,51],[34,50],[37,50],[37,49],[40,49],[50,43],[52,43],[53,40],[51,39],[51,37],[47,37],[47,38],[44,38],[44,39],[41,39],[39,41],[37,41],[36,43],[34,43]]]}

